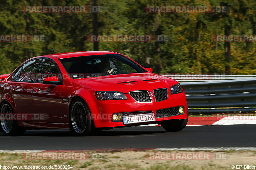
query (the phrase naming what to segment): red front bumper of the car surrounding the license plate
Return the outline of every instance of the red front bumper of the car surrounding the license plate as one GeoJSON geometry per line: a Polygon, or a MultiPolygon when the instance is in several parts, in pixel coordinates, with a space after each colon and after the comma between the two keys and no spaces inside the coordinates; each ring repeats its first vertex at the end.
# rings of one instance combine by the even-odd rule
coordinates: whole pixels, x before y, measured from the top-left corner
{"type": "MultiPolygon", "coordinates": [[[[168,89],[170,94],[170,89],[168,89]]],[[[92,120],[96,128],[105,127],[125,127],[125,126],[136,126],[142,124],[156,124],[161,121],[173,120],[173,119],[187,119],[188,108],[185,93],[178,93],[168,95],[168,98],[163,101],[156,102],[152,96],[152,102],[150,103],[139,103],[135,101],[132,96],[125,94],[127,100],[103,100],[103,101],[89,101],[88,106],[92,114],[92,120]],[[156,111],[172,107],[183,107],[184,113],[182,115],[172,115],[164,117],[156,117],[156,111]],[[114,113],[127,113],[127,112],[141,112],[141,111],[152,111],[155,114],[156,120],[152,122],[142,122],[136,124],[124,124],[122,122],[113,122],[112,115],[114,113]]]]}

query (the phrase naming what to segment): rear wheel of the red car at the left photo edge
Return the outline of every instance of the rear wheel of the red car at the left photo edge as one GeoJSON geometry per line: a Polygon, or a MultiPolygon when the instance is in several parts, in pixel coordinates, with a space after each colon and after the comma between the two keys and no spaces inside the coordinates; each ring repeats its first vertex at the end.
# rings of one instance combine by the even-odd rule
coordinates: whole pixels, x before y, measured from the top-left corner
{"type": "MultiPolygon", "coordinates": [[[[14,111],[9,103],[4,102],[1,105],[0,113],[3,117],[5,117],[6,114],[12,114],[14,111]]],[[[1,130],[7,136],[21,136],[26,132],[26,129],[22,129],[20,126],[18,126],[18,122],[16,120],[4,119],[1,119],[1,130]]]]}

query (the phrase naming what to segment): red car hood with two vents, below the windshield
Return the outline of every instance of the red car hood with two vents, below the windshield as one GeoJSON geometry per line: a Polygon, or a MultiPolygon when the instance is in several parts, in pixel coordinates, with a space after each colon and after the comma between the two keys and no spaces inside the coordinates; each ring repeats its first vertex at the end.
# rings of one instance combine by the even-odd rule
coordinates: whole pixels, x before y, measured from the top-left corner
{"type": "Polygon", "coordinates": [[[170,88],[177,84],[176,80],[153,73],[133,73],[110,75],[94,78],[75,79],[75,81],[101,89],[102,91],[118,91],[129,93],[136,90],[153,91],[158,88],[170,88]]]}

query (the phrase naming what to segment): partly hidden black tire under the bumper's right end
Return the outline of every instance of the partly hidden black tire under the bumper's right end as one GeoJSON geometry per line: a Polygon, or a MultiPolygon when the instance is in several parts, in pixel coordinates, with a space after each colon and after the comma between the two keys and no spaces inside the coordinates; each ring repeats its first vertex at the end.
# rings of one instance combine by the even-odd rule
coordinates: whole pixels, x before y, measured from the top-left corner
{"type": "Polygon", "coordinates": [[[162,123],[162,127],[168,132],[176,132],[184,129],[188,123],[188,119],[182,119],[177,121],[167,121],[162,123]]]}

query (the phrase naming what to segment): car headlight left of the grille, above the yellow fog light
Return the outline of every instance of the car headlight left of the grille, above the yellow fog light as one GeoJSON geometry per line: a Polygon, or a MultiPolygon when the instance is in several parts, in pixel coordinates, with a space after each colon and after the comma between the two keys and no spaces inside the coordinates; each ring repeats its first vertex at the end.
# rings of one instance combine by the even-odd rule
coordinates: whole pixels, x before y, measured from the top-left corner
{"type": "Polygon", "coordinates": [[[96,98],[98,100],[123,100],[127,97],[122,92],[95,92],[96,98]]]}

